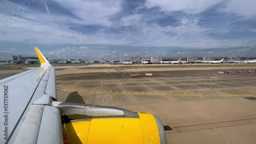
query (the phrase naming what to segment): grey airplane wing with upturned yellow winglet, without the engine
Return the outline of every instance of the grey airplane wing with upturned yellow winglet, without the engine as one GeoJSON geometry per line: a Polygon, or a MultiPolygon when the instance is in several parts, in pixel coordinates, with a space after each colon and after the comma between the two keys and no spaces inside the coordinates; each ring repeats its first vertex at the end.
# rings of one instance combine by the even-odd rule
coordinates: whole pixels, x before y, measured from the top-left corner
{"type": "Polygon", "coordinates": [[[35,51],[40,67],[0,80],[0,143],[62,143],[55,69],[35,51]]]}

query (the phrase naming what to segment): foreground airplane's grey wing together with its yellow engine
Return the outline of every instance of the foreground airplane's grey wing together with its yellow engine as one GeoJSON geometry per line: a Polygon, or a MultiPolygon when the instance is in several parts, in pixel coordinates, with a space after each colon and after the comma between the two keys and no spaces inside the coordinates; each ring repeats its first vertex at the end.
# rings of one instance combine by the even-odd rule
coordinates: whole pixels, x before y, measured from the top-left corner
{"type": "Polygon", "coordinates": [[[167,143],[156,115],[57,102],[55,68],[35,51],[40,67],[0,80],[0,143],[167,143]]]}

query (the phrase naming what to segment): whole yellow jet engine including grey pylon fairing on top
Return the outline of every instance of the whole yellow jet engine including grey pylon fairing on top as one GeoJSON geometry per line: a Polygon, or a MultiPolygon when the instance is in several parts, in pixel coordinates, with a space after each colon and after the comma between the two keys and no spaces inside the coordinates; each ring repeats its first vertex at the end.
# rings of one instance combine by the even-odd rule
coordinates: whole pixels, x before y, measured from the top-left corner
{"type": "Polygon", "coordinates": [[[150,113],[75,103],[53,106],[62,112],[64,143],[167,143],[162,122],[150,113]]]}

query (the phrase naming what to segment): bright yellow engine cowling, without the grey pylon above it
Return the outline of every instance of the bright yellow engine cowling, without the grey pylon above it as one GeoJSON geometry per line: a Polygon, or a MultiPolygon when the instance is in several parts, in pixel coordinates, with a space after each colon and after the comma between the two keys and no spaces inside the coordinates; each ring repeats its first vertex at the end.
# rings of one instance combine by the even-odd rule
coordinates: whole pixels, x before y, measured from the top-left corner
{"type": "Polygon", "coordinates": [[[167,143],[160,119],[138,112],[139,118],[90,118],[62,124],[64,143],[167,143]]]}

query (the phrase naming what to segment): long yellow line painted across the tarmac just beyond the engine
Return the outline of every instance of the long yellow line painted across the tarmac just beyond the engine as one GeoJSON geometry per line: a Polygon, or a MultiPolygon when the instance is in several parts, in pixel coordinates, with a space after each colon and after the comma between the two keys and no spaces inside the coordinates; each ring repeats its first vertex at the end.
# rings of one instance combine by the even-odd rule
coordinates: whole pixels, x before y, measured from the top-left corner
{"type": "MultiPolygon", "coordinates": [[[[207,95],[207,96],[221,96],[221,97],[255,97],[255,94],[230,94],[230,93],[224,93],[224,94],[200,94],[200,93],[191,93],[191,94],[182,94],[182,93],[172,93],[172,94],[166,94],[166,92],[154,92],[152,93],[151,91],[148,91],[148,93],[144,93],[144,91],[139,92],[139,91],[129,91],[128,93],[126,93],[125,91],[119,92],[113,92],[113,91],[92,91],[92,90],[72,90],[72,89],[66,89],[66,88],[62,88],[62,87],[57,87],[57,90],[61,90],[61,91],[70,91],[70,92],[83,92],[83,93],[105,93],[105,94],[131,94],[131,95],[164,95],[164,96],[194,96],[194,97],[203,97],[203,95],[207,95]]],[[[167,93],[171,93],[171,92],[167,92],[167,93]]]]}

